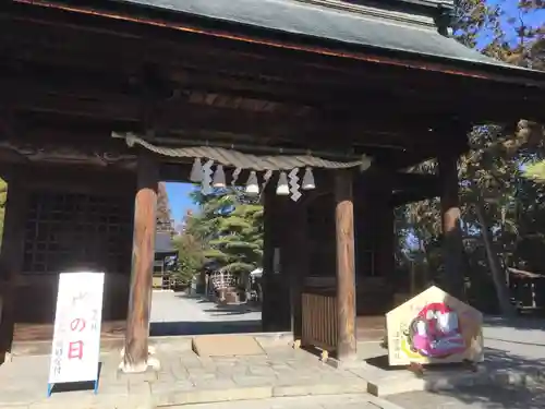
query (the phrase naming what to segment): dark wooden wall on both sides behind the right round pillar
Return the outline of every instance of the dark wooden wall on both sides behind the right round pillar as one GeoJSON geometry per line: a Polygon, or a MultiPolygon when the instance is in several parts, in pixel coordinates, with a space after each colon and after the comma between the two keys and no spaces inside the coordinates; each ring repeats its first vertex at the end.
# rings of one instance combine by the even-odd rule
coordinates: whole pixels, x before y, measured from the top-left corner
{"type": "MultiPolygon", "coordinates": [[[[332,172],[331,172],[332,175],[332,172]]],[[[305,192],[293,203],[275,195],[270,187],[265,201],[264,308],[265,330],[289,330],[296,320],[304,291],[335,293],[336,226],[331,178],[319,181],[319,192],[305,192]],[[272,267],[274,249],[280,251],[280,273],[272,267]],[[305,280],[319,277],[319,289],[305,280]],[[324,286],[325,287],[322,287],[324,286]],[[295,293],[295,298],[293,297],[295,293]]],[[[380,315],[392,306],[395,286],[393,208],[391,183],[380,172],[354,178],[354,229],[358,315],[380,315]]]]}

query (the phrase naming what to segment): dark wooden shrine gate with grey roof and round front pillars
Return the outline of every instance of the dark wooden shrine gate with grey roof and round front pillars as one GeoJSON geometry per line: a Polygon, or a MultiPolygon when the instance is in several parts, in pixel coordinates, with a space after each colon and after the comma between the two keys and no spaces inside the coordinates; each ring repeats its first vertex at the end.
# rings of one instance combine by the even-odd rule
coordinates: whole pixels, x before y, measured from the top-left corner
{"type": "Polygon", "coordinates": [[[457,159],[473,125],[545,121],[545,75],[448,37],[453,1],[257,1],[2,2],[3,350],[14,328],[51,325],[59,272],[97,268],[105,320],[126,325],[124,369],[147,369],[157,185],[207,158],[168,155],[179,148],[243,151],[244,171],[252,154],[368,159],[313,165],[317,192],[298,202],[275,194],[278,175],[267,184],[264,329],[355,357],[356,313],[393,299],[393,208],[428,197],[444,287],[461,296],[457,159]],[[429,159],[436,173],[408,170],[429,159]],[[335,279],[329,298],[314,276],[335,279]]]}

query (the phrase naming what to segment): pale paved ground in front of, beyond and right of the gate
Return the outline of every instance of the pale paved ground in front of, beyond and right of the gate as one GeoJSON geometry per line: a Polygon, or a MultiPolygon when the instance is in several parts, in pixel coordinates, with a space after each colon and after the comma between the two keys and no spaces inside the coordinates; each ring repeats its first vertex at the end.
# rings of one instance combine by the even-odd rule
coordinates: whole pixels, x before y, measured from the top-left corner
{"type": "MultiPolygon", "coordinates": [[[[175,293],[154,293],[153,322],[156,330],[178,335],[229,333],[258,328],[259,312],[245,306],[221,308],[197,298],[175,293]],[[207,329],[207,330],[206,330],[207,329]]],[[[536,371],[545,368],[545,346],[541,321],[505,322],[488,320],[484,329],[491,369],[536,371]]],[[[256,330],[256,329],[253,329],[256,330]]],[[[257,337],[265,354],[202,359],[191,350],[191,337],[155,338],[158,372],[124,376],[117,371],[119,352],[101,356],[99,394],[90,390],[58,392],[46,398],[48,356],[15,357],[0,366],[0,408],[150,409],[203,404],[198,409],[329,408],[337,409],[536,409],[545,407],[544,389],[533,390],[465,387],[440,393],[409,393],[388,401],[373,398],[367,390],[368,373],[332,369],[317,357],[293,350],[287,339],[257,337]],[[367,377],[366,377],[367,376],[367,377]],[[358,394],[358,396],[340,394],[358,394]],[[296,396],[312,397],[295,398],[296,396]],[[331,395],[329,397],[323,395],[331,395]],[[221,402],[225,400],[247,402],[221,402]],[[258,399],[258,400],[257,400],[258,399]],[[541,399],[541,400],[540,400],[541,399]],[[210,404],[217,401],[217,404],[210,404]],[[399,405],[399,406],[398,406],[399,405]]],[[[363,347],[363,345],[362,345],[363,347]]],[[[361,348],[365,354],[384,353],[378,342],[361,348]]],[[[362,364],[363,366],[363,364],[362,364]]],[[[81,385],[80,385],[81,386],[81,385]]],[[[197,408],[195,408],[197,409],[197,408]]]]}

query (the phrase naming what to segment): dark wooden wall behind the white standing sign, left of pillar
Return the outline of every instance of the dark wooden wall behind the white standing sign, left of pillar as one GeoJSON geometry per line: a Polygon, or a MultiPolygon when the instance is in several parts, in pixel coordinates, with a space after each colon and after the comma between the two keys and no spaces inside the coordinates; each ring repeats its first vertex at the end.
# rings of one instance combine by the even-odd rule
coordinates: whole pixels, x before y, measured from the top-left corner
{"type": "Polygon", "coordinates": [[[104,318],[125,318],[134,183],[109,169],[12,169],[1,260],[15,323],[52,323],[58,274],[78,268],[107,273],[104,318]]]}

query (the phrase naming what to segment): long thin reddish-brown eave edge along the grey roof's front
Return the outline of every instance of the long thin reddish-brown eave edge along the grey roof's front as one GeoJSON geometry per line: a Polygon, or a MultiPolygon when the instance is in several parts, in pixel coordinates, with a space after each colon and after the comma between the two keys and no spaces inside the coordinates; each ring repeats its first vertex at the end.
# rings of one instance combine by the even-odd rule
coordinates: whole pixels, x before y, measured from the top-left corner
{"type": "Polygon", "coordinates": [[[146,15],[137,13],[120,13],[116,10],[86,5],[72,5],[72,1],[56,0],[13,0],[15,3],[31,4],[34,7],[44,7],[68,12],[75,12],[86,15],[95,15],[110,20],[133,22],[156,27],[175,29],[179,32],[201,34],[205,36],[243,41],[247,44],[275,47],[279,49],[310,52],[327,57],[337,57],[352,60],[360,60],[387,65],[397,65],[414,70],[435,71],[446,74],[469,76],[482,80],[497,81],[501,83],[512,83],[525,86],[545,87],[545,74],[540,71],[521,69],[516,65],[511,68],[505,65],[494,65],[485,62],[475,63],[474,61],[464,61],[460,59],[449,59],[439,56],[417,55],[405,50],[392,50],[382,47],[372,47],[332,40],[323,37],[313,37],[308,35],[298,35],[288,32],[272,31],[266,27],[249,26],[241,23],[218,21],[199,15],[187,15],[187,13],[165,10],[137,3],[123,3],[123,10],[142,11],[146,10],[146,15]],[[154,13],[150,15],[149,11],[154,13]],[[184,15],[198,21],[201,24],[181,22],[178,19],[167,19],[167,16],[177,17],[184,15]],[[228,28],[216,28],[219,25],[228,28]],[[210,24],[215,23],[215,24],[210,24]],[[214,25],[215,27],[207,27],[214,25]],[[252,32],[252,34],[247,34],[252,32]],[[258,35],[256,35],[258,34],[258,35]],[[278,40],[270,37],[271,34],[282,35],[288,40],[278,40]],[[308,44],[312,43],[312,44],[308,44]],[[423,61],[425,59],[425,61],[423,61]]]}

